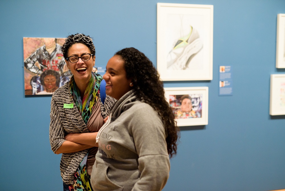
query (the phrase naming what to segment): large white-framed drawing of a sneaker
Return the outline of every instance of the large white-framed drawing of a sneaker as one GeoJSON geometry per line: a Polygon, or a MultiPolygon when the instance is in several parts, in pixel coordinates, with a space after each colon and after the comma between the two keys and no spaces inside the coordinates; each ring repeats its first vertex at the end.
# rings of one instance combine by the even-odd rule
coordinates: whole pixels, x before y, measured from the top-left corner
{"type": "Polygon", "coordinates": [[[157,3],[157,70],[163,81],[213,79],[213,5],[157,3]]]}

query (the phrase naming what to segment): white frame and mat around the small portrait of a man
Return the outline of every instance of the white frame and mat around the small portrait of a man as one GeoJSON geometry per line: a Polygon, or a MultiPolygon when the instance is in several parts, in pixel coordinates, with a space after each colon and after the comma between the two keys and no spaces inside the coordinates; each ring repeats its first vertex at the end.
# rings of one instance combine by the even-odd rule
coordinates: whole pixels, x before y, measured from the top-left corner
{"type": "MultiPolygon", "coordinates": [[[[167,95],[172,95],[169,93],[174,93],[173,95],[184,95],[185,92],[190,91],[204,91],[202,93],[202,117],[201,118],[188,118],[188,119],[176,119],[177,126],[179,127],[187,127],[187,126],[199,126],[199,125],[208,125],[208,109],[209,109],[209,87],[203,86],[203,87],[164,87],[165,91],[165,98],[169,104],[169,98],[167,95]],[[182,94],[180,94],[180,93],[182,94]]],[[[195,93],[188,93],[195,94],[195,93]]],[[[187,94],[186,94],[187,95],[187,94]]]]}

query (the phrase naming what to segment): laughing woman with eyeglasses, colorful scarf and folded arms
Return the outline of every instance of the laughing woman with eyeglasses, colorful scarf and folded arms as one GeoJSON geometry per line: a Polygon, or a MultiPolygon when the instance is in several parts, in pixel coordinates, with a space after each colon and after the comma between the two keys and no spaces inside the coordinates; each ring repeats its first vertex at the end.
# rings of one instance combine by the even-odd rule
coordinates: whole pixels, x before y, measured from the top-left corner
{"type": "Polygon", "coordinates": [[[62,53],[73,75],[52,95],[50,145],[55,154],[62,153],[63,190],[91,190],[89,177],[98,150],[95,137],[116,100],[108,95],[101,100],[102,77],[92,72],[95,47],[89,36],[69,35],[62,53]]]}

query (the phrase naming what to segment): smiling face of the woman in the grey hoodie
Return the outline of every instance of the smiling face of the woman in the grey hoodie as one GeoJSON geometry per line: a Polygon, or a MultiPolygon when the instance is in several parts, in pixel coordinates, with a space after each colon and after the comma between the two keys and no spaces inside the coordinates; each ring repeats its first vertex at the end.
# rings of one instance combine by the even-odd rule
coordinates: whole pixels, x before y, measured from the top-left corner
{"type": "Polygon", "coordinates": [[[109,59],[103,79],[106,81],[106,94],[119,100],[125,93],[133,89],[131,79],[127,79],[124,60],[119,55],[109,59]]]}

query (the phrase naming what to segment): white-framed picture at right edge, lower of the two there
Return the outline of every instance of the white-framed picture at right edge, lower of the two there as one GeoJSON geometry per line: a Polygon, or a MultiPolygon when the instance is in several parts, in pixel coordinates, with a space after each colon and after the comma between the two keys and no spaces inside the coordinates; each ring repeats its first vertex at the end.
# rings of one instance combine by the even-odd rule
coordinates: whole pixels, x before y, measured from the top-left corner
{"type": "Polygon", "coordinates": [[[285,74],[270,75],[269,114],[285,115],[285,74]]]}

